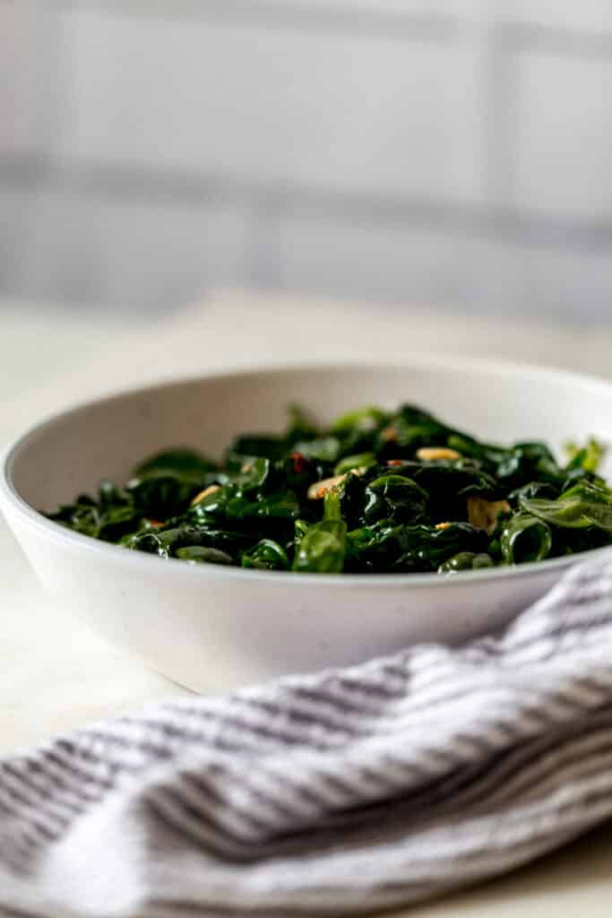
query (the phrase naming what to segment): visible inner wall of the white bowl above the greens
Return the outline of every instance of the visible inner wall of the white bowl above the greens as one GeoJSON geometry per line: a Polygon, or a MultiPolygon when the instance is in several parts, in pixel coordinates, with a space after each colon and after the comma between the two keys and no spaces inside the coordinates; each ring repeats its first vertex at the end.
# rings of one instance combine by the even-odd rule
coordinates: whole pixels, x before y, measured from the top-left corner
{"type": "MultiPolygon", "coordinates": [[[[101,478],[125,481],[144,456],[190,445],[219,456],[236,433],[279,431],[299,402],[322,422],[363,404],[414,402],[476,436],[512,442],[595,434],[612,442],[612,385],[537,368],[423,359],[409,366],[304,367],[202,377],[128,392],[61,414],[18,442],[13,487],[55,509],[101,478]]],[[[612,477],[608,453],[604,474],[612,477]]]]}

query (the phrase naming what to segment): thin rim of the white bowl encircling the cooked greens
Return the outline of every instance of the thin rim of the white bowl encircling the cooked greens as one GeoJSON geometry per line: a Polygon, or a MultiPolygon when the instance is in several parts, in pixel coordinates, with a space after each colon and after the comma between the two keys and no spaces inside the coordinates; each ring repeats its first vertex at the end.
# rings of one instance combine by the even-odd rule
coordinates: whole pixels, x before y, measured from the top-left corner
{"type": "Polygon", "coordinates": [[[362,371],[375,373],[388,370],[410,370],[410,369],[445,369],[454,372],[469,371],[472,374],[490,374],[497,375],[529,375],[535,379],[548,379],[560,381],[564,379],[568,382],[575,382],[581,385],[595,386],[606,389],[607,393],[612,396],[612,381],[606,378],[577,373],[572,370],[566,370],[562,367],[539,366],[536,364],[520,363],[517,361],[503,359],[484,359],[471,356],[455,356],[444,353],[421,352],[411,356],[409,359],[402,361],[386,361],[384,363],[374,360],[355,360],[341,362],[334,361],[313,361],[299,364],[270,363],[270,364],[252,364],[248,366],[239,366],[235,369],[215,369],[206,373],[191,374],[185,376],[172,376],[168,379],[158,379],[140,386],[129,386],[128,388],[111,389],[106,394],[91,397],[83,401],[76,402],[66,409],[52,412],[51,414],[30,425],[24,431],[17,435],[6,449],[0,452],[0,509],[4,509],[7,521],[10,525],[10,513],[28,528],[33,528],[44,535],[51,543],[64,546],[77,552],[90,556],[92,559],[97,558],[100,562],[112,565],[113,563],[128,565],[132,569],[151,572],[150,565],[156,565],[154,569],[165,570],[169,577],[196,577],[196,578],[214,578],[221,581],[238,580],[250,585],[259,583],[262,586],[270,587],[271,585],[288,585],[295,584],[295,587],[316,588],[341,588],[354,589],[364,586],[373,587],[398,587],[405,586],[410,588],[436,588],[443,589],[455,587],[459,584],[467,585],[470,583],[489,583],[491,580],[514,579],[516,577],[533,577],[555,570],[563,570],[579,562],[585,562],[587,559],[595,557],[600,558],[612,554],[612,545],[606,545],[602,548],[592,549],[580,554],[565,555],[560,558],[550,558],[544,561],[529,562],[523,565],[500,566],[485,568],[477,571],[458,571],[447,577],[440,577],[438,573],[427,574],[298,574],[293,571],[267,571],[267,570],[249,570],[237,566],[225,565],[190,565],[185,564],[180,558],[168,558],[170,562],[165,568],[160,568],[160,558],[154,554],[145,552],[128,552],[120,545],[114,543],[101,542],[91,536],[83,535],[80,532],[72,532],[61,526],[60,523],[48,520],[38,509],[33,507],[17,491],[13,480],[13,469],[18,459],[19,453],[28,447],[28,441],[31,437],[44,431],[53,423],[67,418],[76,418],[80,414],[86,413],[100,405],[112,406],[114,402],[129,397],[139,397],[141,395],[152,395],[155,392],[169,388],[180,388],[185,385],[194,385],[207,380],[216,380],[228,382],[237,378],[249,376],[281,376],[295,373],[317,373],[317,372],[355,372],[362,371]],[[3,507],[4,505],[4,507],[3,507]],[[9,509],[9,512],[6,510],[9,509]],[[189,571],[189,573],[186,573],[189,571]]]}

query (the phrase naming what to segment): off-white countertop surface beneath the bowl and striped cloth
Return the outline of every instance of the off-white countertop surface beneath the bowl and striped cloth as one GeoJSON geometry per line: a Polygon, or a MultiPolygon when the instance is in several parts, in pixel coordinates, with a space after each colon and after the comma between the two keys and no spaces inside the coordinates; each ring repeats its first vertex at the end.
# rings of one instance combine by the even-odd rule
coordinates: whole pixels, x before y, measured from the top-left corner
{"type": "MultiPolygon", "coordinates": [[[[486,354],[612,376],[612,325],[586,329],[426,308],[219,292],[154,319],[0,299],[0,445],[49,411],[161,376],[295,360],[486,354]],[[239,334],[237,335],[237,332],[239,334]]],[[[0,521],[0,754],[183,695],[54,608],[0,521]]],[[[612,825],[413,918],[589,918],[610,913],[612,825]]]]}

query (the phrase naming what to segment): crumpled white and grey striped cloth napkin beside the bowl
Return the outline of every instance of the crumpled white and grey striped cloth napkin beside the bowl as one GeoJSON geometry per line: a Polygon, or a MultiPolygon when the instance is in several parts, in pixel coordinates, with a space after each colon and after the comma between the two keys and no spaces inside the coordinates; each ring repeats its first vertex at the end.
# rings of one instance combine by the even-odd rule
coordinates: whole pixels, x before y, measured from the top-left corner
{"type": "MultiPolygon", "coordinates": [[[[612,815],[612,563],[499,638],[95,724],[0,764],[0,903],[352,915],[499,874],[612,815]]],[[[329,610],[333,615],[333,610],[329,610]]]]}

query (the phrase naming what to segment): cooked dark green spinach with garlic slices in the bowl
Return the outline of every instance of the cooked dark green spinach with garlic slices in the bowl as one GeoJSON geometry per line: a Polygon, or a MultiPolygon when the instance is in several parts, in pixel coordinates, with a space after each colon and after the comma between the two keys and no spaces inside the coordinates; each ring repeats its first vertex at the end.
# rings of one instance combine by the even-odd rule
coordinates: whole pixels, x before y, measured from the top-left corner
{"type": "Polygon", "coordinates": [[[165,450],[49,518],[191,564],[325,574],[451,574],[612,543],[595,440],[560,465],[545,443],[481,442],[413,405],[326,429],[289,415],[284,434],[240,436],[220,464],[165,450]]]}

